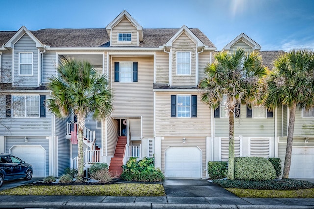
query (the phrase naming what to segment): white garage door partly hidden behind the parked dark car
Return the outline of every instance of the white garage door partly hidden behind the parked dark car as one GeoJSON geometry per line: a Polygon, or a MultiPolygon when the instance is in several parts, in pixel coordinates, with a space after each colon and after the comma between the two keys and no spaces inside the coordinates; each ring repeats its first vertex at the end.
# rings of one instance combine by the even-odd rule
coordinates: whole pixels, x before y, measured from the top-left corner
{"type": "Polygon", "coordinates": [[[45,176],[46,151],[42,146],[14,146],[11,154],[33,166],[33,176],[45,176]]]}

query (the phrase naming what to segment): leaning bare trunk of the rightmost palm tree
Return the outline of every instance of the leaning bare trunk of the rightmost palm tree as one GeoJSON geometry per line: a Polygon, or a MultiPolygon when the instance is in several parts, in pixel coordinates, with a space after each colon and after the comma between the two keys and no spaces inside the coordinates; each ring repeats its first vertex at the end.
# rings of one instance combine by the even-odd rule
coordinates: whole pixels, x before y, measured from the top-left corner
{"type": "Polygon", "coordinates": [[[293,103],[290,107],[290,118],[289,118],[289,127],[287,135],[287,146],[286,146],[286,156],[284,162],[283,170],[283,179],[289,178],[289,172],[291,167],[291,156],[292,156],[292,143],[293,143],[293,132],[294,132],[294,122],[295,122],[295,112],[296,112],[297,103],[293,103]]]}

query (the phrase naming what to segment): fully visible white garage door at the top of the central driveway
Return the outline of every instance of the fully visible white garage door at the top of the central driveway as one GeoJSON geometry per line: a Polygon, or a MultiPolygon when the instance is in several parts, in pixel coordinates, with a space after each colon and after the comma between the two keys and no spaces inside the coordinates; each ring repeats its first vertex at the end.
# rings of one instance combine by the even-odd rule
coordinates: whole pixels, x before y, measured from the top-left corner
{"type": "Polygon", "coordinates": [[[198,147],[169,147],[165,177],[201,178],[202,152],[198,147]]]}

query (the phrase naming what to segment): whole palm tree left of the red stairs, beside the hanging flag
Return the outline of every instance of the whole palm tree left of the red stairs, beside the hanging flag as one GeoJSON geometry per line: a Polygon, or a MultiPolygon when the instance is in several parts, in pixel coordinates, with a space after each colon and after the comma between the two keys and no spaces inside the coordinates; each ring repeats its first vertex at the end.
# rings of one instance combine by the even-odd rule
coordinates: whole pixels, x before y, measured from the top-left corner
{"type": "Polygon", "coordinates": [[[78,123],[78,181],[84,177],[83,128],[85,118],[92,113],[97,120],[105,119],[112,111],[112,95],[107,77],[99,75],[87,61],[62,59],[58,76],[50,78],[49,110],[64,118],[72,112],[78,123]]]}

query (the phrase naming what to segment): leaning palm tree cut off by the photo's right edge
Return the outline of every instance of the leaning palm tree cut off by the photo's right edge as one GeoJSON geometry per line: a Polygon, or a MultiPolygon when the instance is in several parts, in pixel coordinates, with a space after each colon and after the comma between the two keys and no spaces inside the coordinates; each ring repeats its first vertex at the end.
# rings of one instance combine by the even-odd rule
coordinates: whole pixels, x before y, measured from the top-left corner
{"type": "Polygon", "coordinates": [[[283,179],[289,178],[292,142],[297,105],[300,108],[314,106],[314,52],[305,49],[294,49],[280,56],[275,62],[275,69],[268,81],[269,96],[266,106],[275,109],[281,105],[290,108],[287,135],[286,156],[283,179]]]}

